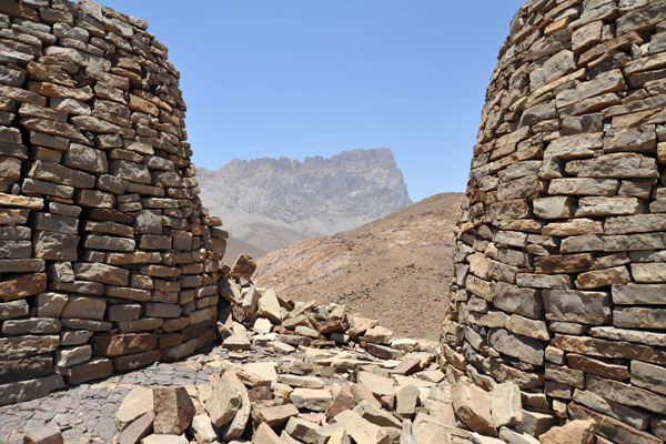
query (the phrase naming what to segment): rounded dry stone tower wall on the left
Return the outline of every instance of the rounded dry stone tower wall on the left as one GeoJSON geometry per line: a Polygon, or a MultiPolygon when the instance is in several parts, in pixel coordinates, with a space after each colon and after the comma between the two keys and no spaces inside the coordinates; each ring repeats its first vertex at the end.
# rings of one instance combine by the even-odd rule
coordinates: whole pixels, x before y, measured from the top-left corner
{"type": "Polygon", "coordinates": [[[226,232],[147,28],[91,1],[0,1],[0,404],[214,339],[226,232]]]}

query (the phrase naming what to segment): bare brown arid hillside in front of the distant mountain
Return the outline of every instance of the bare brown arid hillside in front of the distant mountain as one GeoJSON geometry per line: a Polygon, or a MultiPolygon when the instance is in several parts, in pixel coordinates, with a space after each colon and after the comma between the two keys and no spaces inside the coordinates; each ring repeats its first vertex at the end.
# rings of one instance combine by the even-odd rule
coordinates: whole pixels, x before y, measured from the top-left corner
{"type": "Polygon", "coordinates": [[[275,250],[259,260],[254,280],[283,297],[347,304],[397,335],[435,340],[461,198],[436,194],[335,236],[275,250]]]}

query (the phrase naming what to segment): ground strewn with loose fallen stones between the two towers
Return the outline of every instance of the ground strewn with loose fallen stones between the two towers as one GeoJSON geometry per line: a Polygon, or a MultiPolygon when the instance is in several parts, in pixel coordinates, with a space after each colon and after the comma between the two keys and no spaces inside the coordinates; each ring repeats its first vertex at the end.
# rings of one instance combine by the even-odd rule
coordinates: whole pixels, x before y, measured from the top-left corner
{"type": "Polygon", "coordinates": [[[220,346],[3,407],[3,436],[29,444],[592,443],[593,422],[553,427],[551,415],[523,410],[545,404],[543,394],[522,395],[513,383],[485,392],[455,369],[466,365],[455,354],[444,374],[435,343],[395,340],[344,305],[292,304],[246,281],[225,292],[234,307],[218,325],[220,346]]]}

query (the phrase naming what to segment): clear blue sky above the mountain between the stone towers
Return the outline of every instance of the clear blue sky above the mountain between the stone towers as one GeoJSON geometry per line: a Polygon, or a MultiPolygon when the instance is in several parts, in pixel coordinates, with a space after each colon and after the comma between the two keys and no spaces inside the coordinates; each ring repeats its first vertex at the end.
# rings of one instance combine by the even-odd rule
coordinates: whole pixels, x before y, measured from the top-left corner
{"type": "Polygon", "coordinates": [[[390,148],[413,201],[464,191],[524,0],[101,0],[181,72],[193,162],[390,148]]]}

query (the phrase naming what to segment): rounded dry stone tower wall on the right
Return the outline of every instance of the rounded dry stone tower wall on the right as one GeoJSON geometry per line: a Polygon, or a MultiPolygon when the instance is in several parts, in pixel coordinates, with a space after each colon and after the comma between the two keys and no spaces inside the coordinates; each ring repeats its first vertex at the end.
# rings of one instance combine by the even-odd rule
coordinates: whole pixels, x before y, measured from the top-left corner
{"type": "Polygon", "coordinates": [[[523,428],[592,418],[601,442],[662,443],[665,164],[666,1],[527,1],[474,147],[450,376],[517,383],[523,428]]]}

